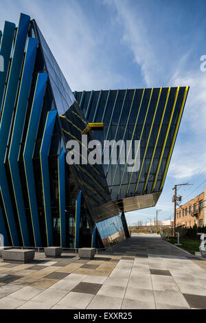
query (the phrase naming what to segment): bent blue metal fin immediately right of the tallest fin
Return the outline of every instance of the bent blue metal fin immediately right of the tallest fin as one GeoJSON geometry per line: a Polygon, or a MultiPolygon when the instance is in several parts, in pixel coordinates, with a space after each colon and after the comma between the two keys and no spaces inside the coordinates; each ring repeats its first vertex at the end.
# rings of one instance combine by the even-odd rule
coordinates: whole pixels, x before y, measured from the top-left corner
{"type": "Polygon", "coordinates": [[[21,188],[21,178],[19,173],[18,155],[21,144],[21,136],[23,132],[23,124],[25,120],[25,113],[27,110],[27,100],[30,94],[30,87],[32,82],[32,74],[34,70],[34,61],[36,57],[37,39],[29,38],[27,43],[27,51],[25,56],[25,63],[23,67],[23,75],[21,78],[21,86],[19,91],[19,98],[16,107],[16,115],[14,119],[14,129],[12,132],[12,140],[10,144],[9,165],[12,177],[12,184],[14,189],[14,197],[16,201],[16,209],[19,215],[21,233],[23,238],[23,245],[30,246],[30,238],[27,229],[27,221],[25,215],[25,206],[23,203],[23,192],[21,188]]]}

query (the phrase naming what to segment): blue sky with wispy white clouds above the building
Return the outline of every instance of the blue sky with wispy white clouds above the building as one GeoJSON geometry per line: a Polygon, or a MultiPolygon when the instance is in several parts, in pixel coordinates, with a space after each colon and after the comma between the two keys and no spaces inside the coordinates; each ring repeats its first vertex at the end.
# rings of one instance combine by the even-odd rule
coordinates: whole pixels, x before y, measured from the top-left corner
{"type": "Polygon", "coordinates": [[[172,214],[172,187],[183,203],[206,186],[205,0],[0,0],[0,27],[36,19],[72,90],[189,85],[163,193],[155,208],[126,214],[146,221],[172,214]]]}

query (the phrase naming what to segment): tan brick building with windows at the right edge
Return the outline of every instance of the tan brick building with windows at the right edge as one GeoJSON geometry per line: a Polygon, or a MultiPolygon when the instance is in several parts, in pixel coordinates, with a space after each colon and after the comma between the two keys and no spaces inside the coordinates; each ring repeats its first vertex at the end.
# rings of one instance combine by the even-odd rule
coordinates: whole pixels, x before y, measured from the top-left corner
{"type": "Polygon", "coordinates": [[[206,225],[206,187],[203,193],[176,209],[176,226],[198,227],[206,225]]]}

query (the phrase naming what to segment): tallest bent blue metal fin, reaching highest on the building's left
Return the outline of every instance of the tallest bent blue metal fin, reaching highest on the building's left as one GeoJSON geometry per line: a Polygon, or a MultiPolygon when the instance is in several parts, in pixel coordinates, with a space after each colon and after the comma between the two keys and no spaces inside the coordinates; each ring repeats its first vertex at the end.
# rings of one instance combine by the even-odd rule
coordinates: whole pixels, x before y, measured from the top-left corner
{"type": "Polygon", "coordinates": [[[19,19],[19,27],[16,33],[16,40],[14,43],[12,64],[10,68],[10,74],[8,77],[8,85],[5,92],[5,101],[3,103],[1,124],[0,124],[0,149],[1,149],[0,186],[1,186],[1,194],[2,194],[4,208],[5,208],[5,214],[8,220],[8,225],[10,227],[12,243],[14,245],[19,245],[19,238],[16,232],[16,224],[14,221],[14,213],[12,210],[10,191],[8,188],[8,182],[5,175],[5,168],[4,168],[3,162],[5,158],[5,151],[7,148],[10,123],[12,120],[12,113],[14,110],[16,91],[19,84],[19,76],[21,73],[21,65],[23,62],[23,53],[25,49],[25,41],[27,38],[29,23],[30,23],[30,16],[21,14],[19,19]]]}

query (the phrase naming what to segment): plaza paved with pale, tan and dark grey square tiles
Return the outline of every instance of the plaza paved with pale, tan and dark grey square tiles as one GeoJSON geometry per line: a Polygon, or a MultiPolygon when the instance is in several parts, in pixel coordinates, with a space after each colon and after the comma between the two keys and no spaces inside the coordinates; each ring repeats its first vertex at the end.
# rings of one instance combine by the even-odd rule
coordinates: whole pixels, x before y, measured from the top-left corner
{"type": "Polygon", "coordinates": [[[0,309],[206,309],[206,261],[157,235],[132,236],[94,260],[0,259],[0,309]]]}

